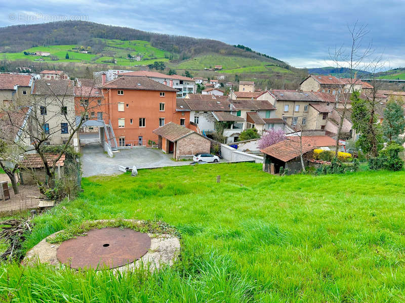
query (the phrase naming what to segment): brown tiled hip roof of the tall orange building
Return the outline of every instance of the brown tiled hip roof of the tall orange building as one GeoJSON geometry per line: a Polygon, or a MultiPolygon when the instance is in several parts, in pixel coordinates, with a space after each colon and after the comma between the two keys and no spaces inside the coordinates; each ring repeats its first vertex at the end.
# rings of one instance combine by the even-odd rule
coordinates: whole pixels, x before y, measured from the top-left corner
{"type": "Polygon", "coordinates": [[[137,90],[177,91],[177,89],[147,77],[121,76],[105,83],[103,88],[121,88],[137,90]]]}

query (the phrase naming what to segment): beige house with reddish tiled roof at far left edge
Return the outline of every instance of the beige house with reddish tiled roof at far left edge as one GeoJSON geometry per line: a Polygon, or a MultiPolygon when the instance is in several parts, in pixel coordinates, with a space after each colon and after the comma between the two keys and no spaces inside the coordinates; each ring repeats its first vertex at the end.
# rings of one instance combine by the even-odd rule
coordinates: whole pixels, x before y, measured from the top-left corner
{"type": "Polygon", "coordinates": [[[29,105],[33,81],[31,75],[0,74],[0,111],[29,105]]]}

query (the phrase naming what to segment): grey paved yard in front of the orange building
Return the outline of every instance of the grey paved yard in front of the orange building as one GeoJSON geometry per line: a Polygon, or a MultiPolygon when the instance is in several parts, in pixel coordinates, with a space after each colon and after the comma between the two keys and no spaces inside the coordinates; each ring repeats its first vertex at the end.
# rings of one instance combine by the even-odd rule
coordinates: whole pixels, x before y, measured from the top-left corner
{"type": "Polygon", "coordinates": [[[83,176],[112,175],[121,173],[118,165],[125,167],[136,166],[137,168],[154,166],[178,166],[190,164],[192,161],[171,160],[173,155],[166,155],[160,149],[136,147],[132,149],[119,149],[114,153],[114,158],[104,154],[104,149],[99,143],[86,144],[81,150],[83,154],[83,176]]]}

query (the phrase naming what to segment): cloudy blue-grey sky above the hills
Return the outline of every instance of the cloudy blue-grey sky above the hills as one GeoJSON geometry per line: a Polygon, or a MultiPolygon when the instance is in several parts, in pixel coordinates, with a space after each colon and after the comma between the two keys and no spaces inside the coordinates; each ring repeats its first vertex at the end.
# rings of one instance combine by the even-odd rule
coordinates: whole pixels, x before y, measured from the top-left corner
{"type": "Polygon", "coordinates": [[[331,65],[328,49],[348,45],[347,25],[368,25],[365,38],[390,68],[405,66],[405,1],[293,0],[0,0],[0,26],[81,19],[158,33],[244,44],[296,67],[331,65]]]}

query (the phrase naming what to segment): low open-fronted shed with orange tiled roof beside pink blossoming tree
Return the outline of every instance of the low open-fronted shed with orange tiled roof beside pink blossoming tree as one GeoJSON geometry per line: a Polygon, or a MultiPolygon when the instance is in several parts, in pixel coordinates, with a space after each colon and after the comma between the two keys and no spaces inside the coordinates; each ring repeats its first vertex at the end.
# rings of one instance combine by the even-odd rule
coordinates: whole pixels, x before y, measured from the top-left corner
{"type": "Polygon", "coordinates": [[[302,135],[301,138],[300,135],[292,134],[287,136],[284,141],[260,150],[264,154],[263,171],[278,174],[282,168],[283,170],[287,169],[289,174],[301,172],[301,152],[304,167],[307,167],[313,158],[312,151],[315,148],[334,150],[335,146],[336,140],[326,136],[325,132],[322,135],[302,135]]]}

